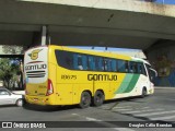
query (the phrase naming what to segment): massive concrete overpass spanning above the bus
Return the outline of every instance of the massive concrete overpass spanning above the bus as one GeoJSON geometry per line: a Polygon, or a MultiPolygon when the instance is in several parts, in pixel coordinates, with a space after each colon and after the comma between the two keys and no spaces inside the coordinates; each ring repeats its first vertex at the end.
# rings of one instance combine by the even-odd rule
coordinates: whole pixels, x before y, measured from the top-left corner
{"type": "Polygon", "coordinates": [[[0,44],[39,44],[46,25],[51,44],[147,49],[175,39],[174,16],[174,5],[137,0],[1,0],[0,44]]]}

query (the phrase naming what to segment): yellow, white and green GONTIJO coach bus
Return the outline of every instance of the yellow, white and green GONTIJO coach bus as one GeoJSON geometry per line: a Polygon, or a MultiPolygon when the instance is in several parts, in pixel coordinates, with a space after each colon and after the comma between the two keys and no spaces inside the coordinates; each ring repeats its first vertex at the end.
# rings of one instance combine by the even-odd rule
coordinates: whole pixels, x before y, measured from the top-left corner
{"type": "Polygon", "coordinates": [[[24,56],[25,99],[36,105],[101,106],[104,100],[154,93],[156,72],[145,60],[63,46],[24,56]]]}

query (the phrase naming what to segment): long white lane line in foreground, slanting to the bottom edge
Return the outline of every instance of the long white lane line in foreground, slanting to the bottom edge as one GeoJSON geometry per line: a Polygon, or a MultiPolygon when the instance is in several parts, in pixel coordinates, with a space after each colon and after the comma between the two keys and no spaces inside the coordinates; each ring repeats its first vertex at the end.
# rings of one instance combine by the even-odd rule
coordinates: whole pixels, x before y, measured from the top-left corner
{"type": "Polygon", "coordinates": [[[105,122],[103,120],[95,119],[95,118],[92,118],[92,117],[85,117],[85,116],[82,116],[82,115],[79,115],[79,114],[72,114],[72,115],[85,118],[88,121],[98,122],[100,124],[103,124],[103,126],[105,126],[107,128],[112,128],[112,129],[117,130],[117,131],[136,131],[136,130],[132,130],[132,129],[129,129],[129,128],[114,128],[114,127],[116,127],[116,124],[113,124],[113,123],[109,123],[109,122],[105,122]]]}

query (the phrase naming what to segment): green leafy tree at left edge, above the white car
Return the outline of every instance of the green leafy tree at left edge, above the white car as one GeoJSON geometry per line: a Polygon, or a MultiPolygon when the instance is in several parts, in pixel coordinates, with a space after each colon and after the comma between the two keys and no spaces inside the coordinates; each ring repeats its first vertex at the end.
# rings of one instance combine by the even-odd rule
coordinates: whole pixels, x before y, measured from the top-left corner
{"type": "Polygon", "coordinates": [[[3,81],[3,85],[5,87],[10,87],[16,78],[16,73],[19,71],[19,66],[14,60],[10,58],[1,58],[0,59],[0,80],[3,81]]]}

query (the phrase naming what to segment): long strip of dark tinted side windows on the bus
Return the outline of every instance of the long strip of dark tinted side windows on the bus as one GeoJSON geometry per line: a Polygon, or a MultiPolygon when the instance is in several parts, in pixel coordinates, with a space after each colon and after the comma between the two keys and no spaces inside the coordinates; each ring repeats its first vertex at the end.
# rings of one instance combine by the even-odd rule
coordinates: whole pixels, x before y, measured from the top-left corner
{"type": "Polygon", "coordinates": [[[56,50],[57,62],[70,70],[141,73],[147,75],[143,63],[103,58],[97,56],[56,50]]]}

